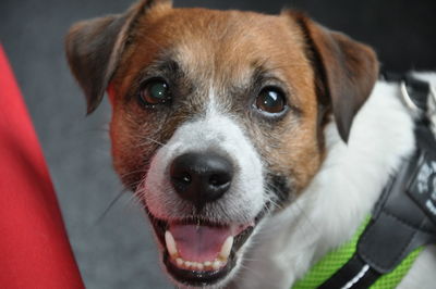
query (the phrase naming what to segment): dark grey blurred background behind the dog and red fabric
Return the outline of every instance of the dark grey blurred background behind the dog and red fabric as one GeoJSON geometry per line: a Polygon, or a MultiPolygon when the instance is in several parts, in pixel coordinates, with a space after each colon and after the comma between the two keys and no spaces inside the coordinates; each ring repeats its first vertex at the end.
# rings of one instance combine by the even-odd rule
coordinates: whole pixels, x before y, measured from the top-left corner
{"type": "MultiPolygon", "coordinates": [[[[171,288],[148,224],[111,168],[107,101],[89,117],[63,52],[69,26],[124,11],[129,0],[0,0],[0,41],[47,158],[69,236],[90,289],[171,288]]],[[[372,45],[384,68],[436,70],[435,0],[175,0],[177,7],[306,11],[372,45]]],[[[0,75],[1,77],[1,75],[0,75]]]]}

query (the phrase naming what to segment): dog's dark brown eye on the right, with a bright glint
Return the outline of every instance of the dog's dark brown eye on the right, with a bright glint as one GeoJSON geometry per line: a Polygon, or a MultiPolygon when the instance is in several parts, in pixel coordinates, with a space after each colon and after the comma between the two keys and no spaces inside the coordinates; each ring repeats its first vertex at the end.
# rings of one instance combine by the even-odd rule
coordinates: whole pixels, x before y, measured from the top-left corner
{"type": "Polygon", "coordinates": [[[271,114],[277,114],[286,109],[284,93],[275,87],[265,87],[256,99],[256,109],[271,114]]]}

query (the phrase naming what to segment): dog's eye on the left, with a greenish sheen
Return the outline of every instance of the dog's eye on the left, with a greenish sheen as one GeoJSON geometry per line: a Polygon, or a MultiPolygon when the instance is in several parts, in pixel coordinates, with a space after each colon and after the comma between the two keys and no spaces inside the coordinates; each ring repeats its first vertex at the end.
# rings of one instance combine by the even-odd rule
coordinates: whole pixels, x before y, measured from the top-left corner
{"type": "Polygon", "coordinates": [[[169,86],[164,79],[148,80],[140,92],[140,101],[148,106],[166,103],[169,100],[169,86]]]}

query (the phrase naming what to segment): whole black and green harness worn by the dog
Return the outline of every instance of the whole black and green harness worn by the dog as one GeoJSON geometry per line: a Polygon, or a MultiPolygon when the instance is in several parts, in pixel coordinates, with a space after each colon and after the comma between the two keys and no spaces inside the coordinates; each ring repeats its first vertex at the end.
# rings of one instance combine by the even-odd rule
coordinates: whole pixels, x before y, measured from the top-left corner
{"type": "Polygon", "coordinates": [[[423,247],[436,243],[436,140],[431,128],[436,124],[428,117],[436,96],[429,84],[410,74],[384,76],[400,81],[403,102],[415,118],[416,150],[353,238],[325,255],[292,289],[395,288],[423,247]]]}

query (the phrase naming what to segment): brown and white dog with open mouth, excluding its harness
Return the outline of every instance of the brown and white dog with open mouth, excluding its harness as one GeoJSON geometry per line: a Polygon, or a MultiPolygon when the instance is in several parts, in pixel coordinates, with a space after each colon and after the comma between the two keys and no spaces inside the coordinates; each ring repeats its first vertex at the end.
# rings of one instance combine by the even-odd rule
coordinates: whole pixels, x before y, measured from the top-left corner
{"type": "MultiPolygon", "coordinates": [[[[295,11],[143,0],[75,24],[65,47],[87,112],[108,92],[113,166],[178,287],[291,288],[415,147],[373,49],[295,11]]],[[[428,246],[399,288],[434,272],[428,246]]]]}

